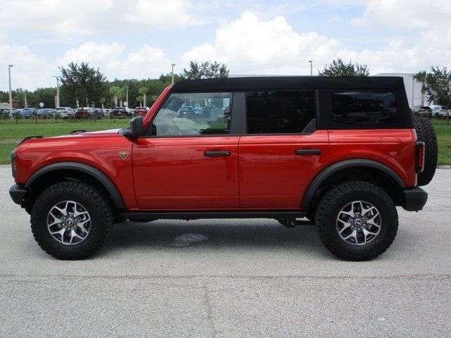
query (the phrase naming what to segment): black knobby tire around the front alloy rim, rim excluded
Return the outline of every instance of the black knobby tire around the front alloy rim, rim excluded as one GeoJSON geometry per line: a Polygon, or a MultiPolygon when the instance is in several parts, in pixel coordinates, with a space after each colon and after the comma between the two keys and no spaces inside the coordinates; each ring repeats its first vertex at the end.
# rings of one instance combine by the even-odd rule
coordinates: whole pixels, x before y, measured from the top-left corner
{"type": "Polygon", "coordinates": [[[58,259],[80,260],[92,256],[106,241],[113,225],[113,213],[106,197],[96,188],[79,181],[52,185],[39,195],[32,208],[31,230],[39,246],[58,259]],[[58,242],[47,230],[47,214],[58,201],[73,200],[85,206],[92,219],[87,238],[75,245],[58,242]]]}

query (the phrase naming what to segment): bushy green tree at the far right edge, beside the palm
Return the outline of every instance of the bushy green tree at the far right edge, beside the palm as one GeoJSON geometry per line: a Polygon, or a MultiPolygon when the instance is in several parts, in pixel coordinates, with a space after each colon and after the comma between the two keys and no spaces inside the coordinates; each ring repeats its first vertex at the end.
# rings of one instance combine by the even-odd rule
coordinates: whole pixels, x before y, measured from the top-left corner
{"type": "MultiPolygon", "coordinates": [[[[426,93],[431,101],[437,100],[448,110],[451,106],[451,71],[446,67],[431,67],[431,73],[426,75],[426,93]]],[[[450,124],[450,115],[446,115],[450,124]]]]}

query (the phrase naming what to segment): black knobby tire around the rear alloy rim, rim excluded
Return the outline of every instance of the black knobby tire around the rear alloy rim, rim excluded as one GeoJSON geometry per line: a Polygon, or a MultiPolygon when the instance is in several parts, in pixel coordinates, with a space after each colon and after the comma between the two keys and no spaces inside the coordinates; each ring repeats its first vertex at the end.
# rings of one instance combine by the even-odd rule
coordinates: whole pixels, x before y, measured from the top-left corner
{"type": "Polygon", "coordinates": [[[345,261],[369,261],[381,255],[396,237],[398,218],[395,204],[380,187],[363,181],[351,181],[330,189],[316,209],[316,228],[321,241],[335,256],[345,261]],[[340,210],[352,201],[367,201],[381,213],[381,230],[371,242],[357,246],[345,242],[336,228],[340,210]]]}

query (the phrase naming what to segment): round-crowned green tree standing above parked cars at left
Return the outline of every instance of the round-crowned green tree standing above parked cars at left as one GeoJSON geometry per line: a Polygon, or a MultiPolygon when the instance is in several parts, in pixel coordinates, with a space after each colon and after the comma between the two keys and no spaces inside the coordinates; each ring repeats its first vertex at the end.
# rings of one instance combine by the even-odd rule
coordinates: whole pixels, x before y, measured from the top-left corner
{"type": "Polygon", "coordinates": [[[99,104],[100,98],[106,92],[106,78],[100,73],[99,68],[89,67],[89,63],[82,62],[69,63],[68,68],[60,67],[61,92],[68,100],[68,104],[73,105],[80,101],[89,105],[90,102],[99,104]]]}

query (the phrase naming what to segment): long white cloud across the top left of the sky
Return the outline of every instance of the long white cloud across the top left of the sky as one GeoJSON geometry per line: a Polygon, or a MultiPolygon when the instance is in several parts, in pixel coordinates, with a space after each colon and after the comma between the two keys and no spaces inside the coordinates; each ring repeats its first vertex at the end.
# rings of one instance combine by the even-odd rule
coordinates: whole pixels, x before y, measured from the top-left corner
{"type": "Polygon", "coordinates": [[[67,39],[143,26],[159,30],[199,25],[194,9],[183,0],[3,0],[0,17],[4,31],[67,39]]]}

